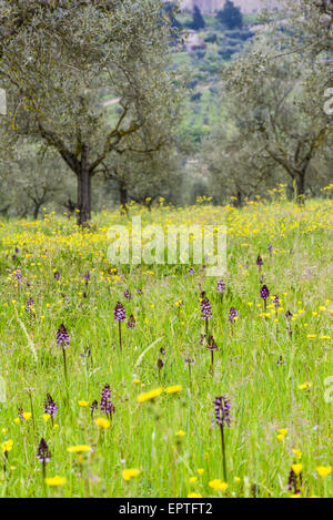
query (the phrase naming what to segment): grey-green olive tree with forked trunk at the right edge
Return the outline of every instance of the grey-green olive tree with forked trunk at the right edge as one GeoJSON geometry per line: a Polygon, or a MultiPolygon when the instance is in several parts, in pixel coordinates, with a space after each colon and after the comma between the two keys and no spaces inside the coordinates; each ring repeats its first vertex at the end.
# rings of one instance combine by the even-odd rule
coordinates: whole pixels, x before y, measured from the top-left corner
{"type": "Polygon", "coordinates": [[[284,170],[300,201],[313,160],[332,143],[332,119],[324,111],[324,91],[332,79],[332,30],[319,32],[325,8],[320,3],[314,11],[316,3],[287,0],[287,10],[276,14],[224,78],[224,101],[234,126],[241,136],[249,135],[258,157],[269,157],[284,170]]]}

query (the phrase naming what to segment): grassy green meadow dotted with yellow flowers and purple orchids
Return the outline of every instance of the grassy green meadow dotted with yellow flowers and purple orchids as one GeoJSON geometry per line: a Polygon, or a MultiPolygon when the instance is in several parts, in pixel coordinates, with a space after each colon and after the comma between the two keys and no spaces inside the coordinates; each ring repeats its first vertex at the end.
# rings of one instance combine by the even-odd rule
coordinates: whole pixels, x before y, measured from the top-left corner
{"type": "Polygon", "coordinates": [[[333,202],[0,223],[1,497],[332,497],[333,202]],[[228,271],[108,230],[228,226],[228,271]]]}

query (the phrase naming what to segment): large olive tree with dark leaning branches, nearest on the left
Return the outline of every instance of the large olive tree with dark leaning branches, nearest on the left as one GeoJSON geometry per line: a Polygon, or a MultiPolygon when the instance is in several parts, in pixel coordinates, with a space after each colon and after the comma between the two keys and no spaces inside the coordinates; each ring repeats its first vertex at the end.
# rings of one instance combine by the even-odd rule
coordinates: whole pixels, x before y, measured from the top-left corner
{"type": "Polygon", "coordinates": [[[152,125],[160,149],[176,119],[170,17],[162,0],[2,3],[0,79],[11,129],[57,150],[77,176],[85,224],[91,180],[109,155],[135,151],[135,134],[152,125]]]}

